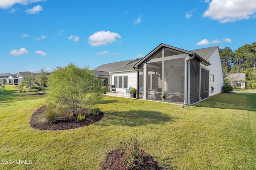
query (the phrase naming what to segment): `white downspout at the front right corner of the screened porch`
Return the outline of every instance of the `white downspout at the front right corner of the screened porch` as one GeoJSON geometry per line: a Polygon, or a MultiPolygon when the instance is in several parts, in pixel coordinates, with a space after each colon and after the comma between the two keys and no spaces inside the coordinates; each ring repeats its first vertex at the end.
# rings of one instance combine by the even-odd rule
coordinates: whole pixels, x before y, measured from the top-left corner
{"type": "Polygon", "coordinates": [[[192,57],[188,58],[186,60],[187,66],[185,67],[187,69],[186,71],[186,90],[185,90],[185,103],[190,106],[190,60],[195,58],[195,53],[192,53],[192,57]]]}

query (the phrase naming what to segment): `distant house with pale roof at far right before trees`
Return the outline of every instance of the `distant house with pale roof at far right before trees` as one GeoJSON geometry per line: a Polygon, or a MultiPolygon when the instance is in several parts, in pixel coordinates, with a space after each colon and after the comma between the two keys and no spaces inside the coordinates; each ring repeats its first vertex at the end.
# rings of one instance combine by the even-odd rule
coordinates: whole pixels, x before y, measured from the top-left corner
{"type": "Polygon", "coordinates": [[[228,74],[228,80],[233,88],[245,88],[245,73],[228,74]]]}

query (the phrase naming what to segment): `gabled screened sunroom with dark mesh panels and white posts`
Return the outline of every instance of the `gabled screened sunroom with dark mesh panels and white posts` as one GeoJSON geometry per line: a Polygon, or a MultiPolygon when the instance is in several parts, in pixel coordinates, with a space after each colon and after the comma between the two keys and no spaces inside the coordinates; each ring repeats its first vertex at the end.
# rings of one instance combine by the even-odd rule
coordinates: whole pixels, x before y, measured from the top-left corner
{"type": "Polygon", "coordinates": [[[189,105],[207,98],[209,71],[201,68],[200,62],[205,66],[210,64],[191,51],[159,45],[134,65],[137,97],[189,105]]]}

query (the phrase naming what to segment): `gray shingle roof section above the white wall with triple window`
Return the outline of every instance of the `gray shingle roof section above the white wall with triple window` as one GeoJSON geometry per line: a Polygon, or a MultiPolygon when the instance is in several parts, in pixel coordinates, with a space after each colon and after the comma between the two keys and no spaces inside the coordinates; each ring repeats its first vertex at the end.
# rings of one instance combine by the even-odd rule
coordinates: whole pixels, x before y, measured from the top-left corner
{"type": "Polygon", "coordinates": [[[101,66],[98,66],[97,68],[94,68],[93,70],[104,71],[104,72],[116,72],[120,68],[127,66],[130,63],[134,63],[134,61],[127,60],[127,61],[120,61],[120,62],[116,62],[116,63],[102,64],[101,66]]]}

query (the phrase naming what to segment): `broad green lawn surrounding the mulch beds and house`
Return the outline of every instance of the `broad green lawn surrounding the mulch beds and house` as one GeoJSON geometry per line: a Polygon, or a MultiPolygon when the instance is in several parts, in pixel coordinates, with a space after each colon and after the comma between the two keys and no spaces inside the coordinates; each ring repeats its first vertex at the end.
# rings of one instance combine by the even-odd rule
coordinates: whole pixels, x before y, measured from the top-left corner
{"type": "Polygon", "coordinates": [[[163,169],[256,169],[256,94],[219,94],[186,109],[106,96],[99,122],[41,131],[29,122],[46,95],[14,86],[0,92],[0,160],[14,161],[0,169],[100,170],[108,153],[134,137],[163,169]]]}

